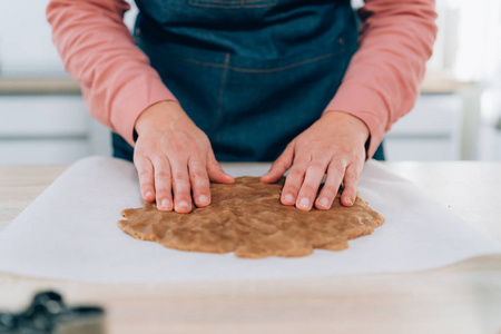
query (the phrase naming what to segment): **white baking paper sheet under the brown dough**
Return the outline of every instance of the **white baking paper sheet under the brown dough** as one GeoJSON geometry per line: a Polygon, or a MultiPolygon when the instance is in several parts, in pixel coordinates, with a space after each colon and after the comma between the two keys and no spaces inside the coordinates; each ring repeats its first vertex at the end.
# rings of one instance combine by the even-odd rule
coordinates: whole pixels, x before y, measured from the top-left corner
{"type": "MultiPolygon", "coordinates": [[[[234,176],[268,168],[234,167],[234,176]]],[[[120,212],[140,207],[132,164],[90,157],[72,165],[0,234],[0,271],[80,282],[275,279],[413,272],[501,253],[501,244],[428,198],[412,183],[366,164],[360,195],[385,217],[343,252],[299,258],[237,258],[137,240],[118,227],[120,212]]]]}

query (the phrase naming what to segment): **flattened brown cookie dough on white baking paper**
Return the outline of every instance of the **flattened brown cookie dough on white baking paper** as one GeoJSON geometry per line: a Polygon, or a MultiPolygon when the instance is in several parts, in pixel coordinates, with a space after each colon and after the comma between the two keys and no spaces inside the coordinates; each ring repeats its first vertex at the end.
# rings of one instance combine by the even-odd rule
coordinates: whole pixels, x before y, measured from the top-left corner
{"type": "Polygon", "coordinates": [[[238,257],[305,256],[314,248],[342,250],[347,240],[371,234],[383,217],[357,197],[343,207],[340,195],[331,209],[302,212],[281,204],[284,178],[263,184],[239,177],[233,185],[210,184],[212,204],[190,214],[159,212],[155,204],[122,210],[120,228],[141,240],[207,253],[235,252],[238,257]]]}

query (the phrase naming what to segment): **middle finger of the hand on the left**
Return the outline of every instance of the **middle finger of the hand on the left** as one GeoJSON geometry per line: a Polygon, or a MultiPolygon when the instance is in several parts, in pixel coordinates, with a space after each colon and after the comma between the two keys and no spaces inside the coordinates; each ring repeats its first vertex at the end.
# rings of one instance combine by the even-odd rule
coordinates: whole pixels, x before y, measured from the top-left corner
{"type": "Polygon", "coordinates": [[[191,185],[188,175],[187,160],[170,159],[173,170],[174,209],[176,213],[191,212],[191,185]]]}

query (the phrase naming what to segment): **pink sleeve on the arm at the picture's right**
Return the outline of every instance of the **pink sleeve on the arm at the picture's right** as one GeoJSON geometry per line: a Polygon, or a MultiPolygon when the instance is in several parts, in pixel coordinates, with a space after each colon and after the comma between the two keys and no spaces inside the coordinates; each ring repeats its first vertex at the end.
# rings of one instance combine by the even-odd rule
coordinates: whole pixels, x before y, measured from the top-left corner
{"type": "Polygon", "coordinates": [[[358,50],[327,110],[362,119],[372,157],[384,134],[415,104],[436,37],[433,0],[366,0],[358,50]]]}

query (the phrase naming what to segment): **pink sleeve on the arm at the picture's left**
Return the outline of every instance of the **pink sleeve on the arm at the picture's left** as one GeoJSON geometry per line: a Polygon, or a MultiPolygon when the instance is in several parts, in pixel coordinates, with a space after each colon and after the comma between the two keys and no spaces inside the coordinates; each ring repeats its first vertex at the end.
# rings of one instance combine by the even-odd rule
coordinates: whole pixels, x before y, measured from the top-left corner
{"type": "Polygon", "coordinates": [[[90,114],[134,145],[134,125],[147,107],[176,100],[134,45],[122,0],[51,0],[47,18],[68,72],[90,114]]]}

